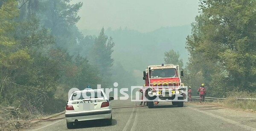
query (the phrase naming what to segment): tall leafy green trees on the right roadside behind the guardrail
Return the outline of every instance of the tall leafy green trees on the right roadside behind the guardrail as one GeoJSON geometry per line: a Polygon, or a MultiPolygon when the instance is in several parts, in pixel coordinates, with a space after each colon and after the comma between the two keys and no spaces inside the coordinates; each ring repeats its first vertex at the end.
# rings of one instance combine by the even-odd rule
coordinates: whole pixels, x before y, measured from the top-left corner
{"type": "Polygon", "coordinates": [[[189,73],[201,71],[215,95],[233,89],[254,91],[256,1],[200,0],[201,14],[187,37],[189,73]],[[195,70],[197,69],[197,70],[195,70]]]}

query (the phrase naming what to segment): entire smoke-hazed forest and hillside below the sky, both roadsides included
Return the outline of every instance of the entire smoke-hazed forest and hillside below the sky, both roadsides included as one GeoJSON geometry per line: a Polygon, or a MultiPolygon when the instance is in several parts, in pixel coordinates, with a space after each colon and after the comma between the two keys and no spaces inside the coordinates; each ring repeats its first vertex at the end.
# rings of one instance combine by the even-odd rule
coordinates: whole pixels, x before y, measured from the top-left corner
{"type": "Polygon", "coordinates": [[[146,66],[163,62],[180,64],[185,85],[204,83],[207,95],[255,92],[255,0],[200,0],[191,26],[150,33],[82,33],[83,3],[70,1],[0,1],[0,107],[11,111],[0,121],[63,111],[71,88],[142,85],[146,66]]]}

